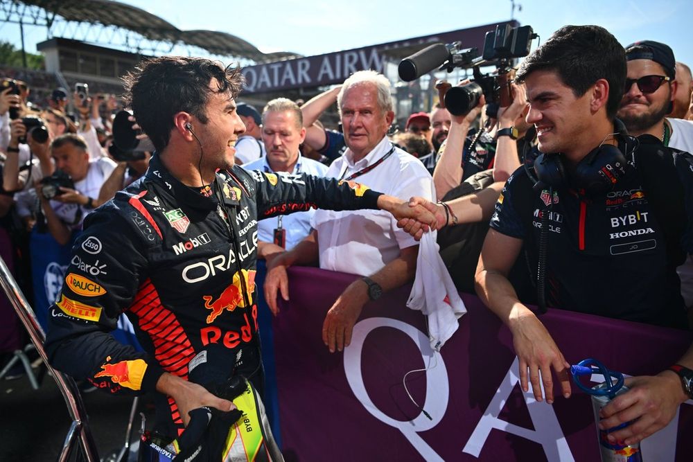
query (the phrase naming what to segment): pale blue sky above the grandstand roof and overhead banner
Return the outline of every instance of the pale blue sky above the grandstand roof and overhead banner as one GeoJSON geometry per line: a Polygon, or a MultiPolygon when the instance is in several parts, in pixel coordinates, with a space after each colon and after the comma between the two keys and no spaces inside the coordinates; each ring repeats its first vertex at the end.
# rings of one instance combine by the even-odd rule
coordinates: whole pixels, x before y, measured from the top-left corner
{"type": "MultiPolygon", "coordinates": [[[[690,0],[514,0],[514,3],[511,0],[123,0],[123,3],[143,8],[182,30],[231,33],[265,53],[291,51],[304,56],[319,55],[507,21],[513,15],[523,26],[532,26],[541,41],[565,24],[597,24],[611,31],[623,45],[643,39],[664,42],[672,47],[677,60],[693,67],[693,46],[690,46],[693,2],[690,0]],[[243,11],[243,7],[247,10],[243,11]]],[[[0,39],[19,46],[19,25],[0,23],[0,39]]],[[[46,39],[46,28],[25,26],[24,39],[27,51],[35,52],[35,44],[46,39]]],[[[536,44],[535,41],[532,49],[536,44]]]]}

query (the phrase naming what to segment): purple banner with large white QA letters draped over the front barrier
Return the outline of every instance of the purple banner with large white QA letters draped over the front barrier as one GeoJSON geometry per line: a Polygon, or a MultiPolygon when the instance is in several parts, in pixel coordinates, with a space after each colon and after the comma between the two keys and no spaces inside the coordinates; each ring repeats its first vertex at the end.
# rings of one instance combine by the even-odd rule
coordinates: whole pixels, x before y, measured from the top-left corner
{"type": "MultiPolygon", "coordinates": [[[[547,405],[523,393],[509,330],[475,296],[463,296],[468,313],[441,353],[430,349],[423,315],[405,305],[410,286],[367,304],[351,346],[329,353],[322,322],[354,278],[290,270],[290,302],[273,323],[287,461],[600,460],[590,397],[573,386],[571,398],[547,405]],[[418,405],[403,387],[415,370],[423,371],[406,381],[418,405]]],[[[689,332],[561,310],[541,319],[571,364],[593,357],[628,375],[658,373],[692,341],[689,332]]],[[[691,461],[692,435],[689,400],[642,443],[642,459],[691,461]]]]}

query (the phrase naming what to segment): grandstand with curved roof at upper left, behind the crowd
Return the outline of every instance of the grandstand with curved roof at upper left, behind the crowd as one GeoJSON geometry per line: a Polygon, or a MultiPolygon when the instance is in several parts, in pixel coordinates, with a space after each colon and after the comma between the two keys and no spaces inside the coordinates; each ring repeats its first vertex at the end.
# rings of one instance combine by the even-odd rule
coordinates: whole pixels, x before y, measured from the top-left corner
{"type": "Polygon", "coordinates": [[[28,82],[30,100],[40,105],[55,87],[70,91],[76,82],[89,84],[92,94],[119,95],[122,75],[146,57],[173,51],[243,66],[300,56],[263,53],[229,33],[180,30],[146,10],[112,0],[0,0],[0,21],[46,28],[46,40],[37,44],[46,57],[45,71],[0,67],[3,75],[28,82]]]}

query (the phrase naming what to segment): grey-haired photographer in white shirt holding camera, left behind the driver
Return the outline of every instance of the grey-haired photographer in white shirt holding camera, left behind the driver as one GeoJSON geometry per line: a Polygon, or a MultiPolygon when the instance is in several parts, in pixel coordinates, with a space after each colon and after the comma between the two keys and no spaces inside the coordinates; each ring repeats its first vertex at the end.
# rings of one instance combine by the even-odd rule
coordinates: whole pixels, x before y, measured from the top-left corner
{"type": "Polygon", "coordinates": [[[107,157],[89,160],[87,143],[64,134],[51,143],[55,173],[37,186],[46,224],[60,245],[66,245],[82,220],[102,202],[98,193],[116,163],[107,157]]]}

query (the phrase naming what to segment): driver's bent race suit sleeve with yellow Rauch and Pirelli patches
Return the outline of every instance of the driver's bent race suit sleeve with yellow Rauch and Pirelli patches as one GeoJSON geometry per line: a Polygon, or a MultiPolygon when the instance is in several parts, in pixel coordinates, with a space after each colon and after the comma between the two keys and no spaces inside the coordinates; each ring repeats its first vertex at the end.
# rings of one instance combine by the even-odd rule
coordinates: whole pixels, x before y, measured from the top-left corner
{"type": "Polygon", "coordinates": [[[143,233],[130,223],[134,217],[114,208],[107,204],[85,219],[62,291],[49,308],[46,353],[58,370],[111,393],[152,391],[163,373],[159,364],[109,333],[132,303],[147,266],[143,233]]]}

